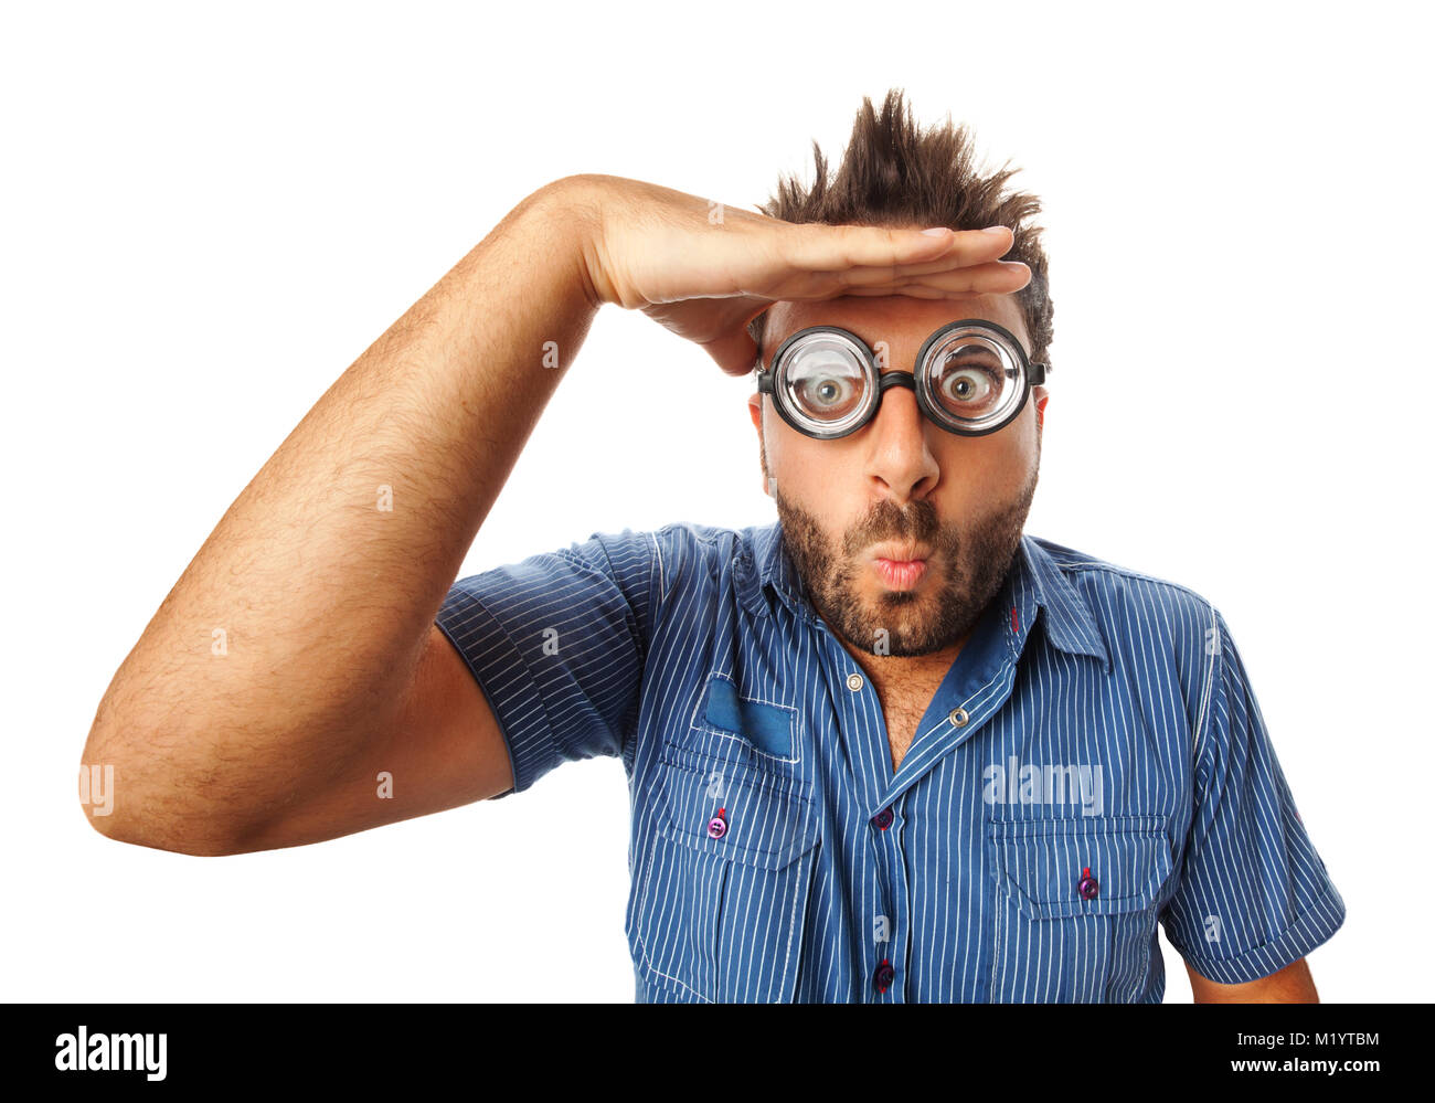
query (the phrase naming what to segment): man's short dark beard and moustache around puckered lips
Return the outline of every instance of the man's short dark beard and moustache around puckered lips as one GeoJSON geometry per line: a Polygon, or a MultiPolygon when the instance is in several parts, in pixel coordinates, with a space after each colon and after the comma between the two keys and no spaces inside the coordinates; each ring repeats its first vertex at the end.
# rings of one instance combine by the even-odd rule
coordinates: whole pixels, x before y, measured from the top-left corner
{"type": "MultiPolygon", "coordinates": [[[[766,473],[766,455],[762,462],[766,473]]],[[[812,606],[852,646],[870,655],[930,655],[964,639],[1006,582],[1036,493],[1039,465],[1038,451],[1032,475],[1016,497],[960,523],[941,524],[930,498],[910,501],[905,508],[883,498],[842,534],[838,546],[828,540],[817,517],[773,487],[782,544],[812,606]],[[916,590],[884,589],[875,600],[864,596],[860,576],[871,573],[865,553],[884,540],[927,544],[928,567],[938,567],[941,577],[928,573],[916,590]]]]}

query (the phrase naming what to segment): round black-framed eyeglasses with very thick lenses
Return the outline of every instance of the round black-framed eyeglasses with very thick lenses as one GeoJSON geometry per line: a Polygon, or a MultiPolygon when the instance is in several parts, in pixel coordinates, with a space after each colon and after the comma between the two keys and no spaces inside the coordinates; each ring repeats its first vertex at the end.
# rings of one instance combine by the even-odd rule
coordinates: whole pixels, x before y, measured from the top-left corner
{"type": "Polygon", "coordinates": [[[855,333],[812,326],[778,346],[772,365],[758,372],[758,391],[772,395],[788,425],[824,441],[877,416],[890,386],[913,391],[923,415],[947,432],[983,437],[1020,414],[1048,372],[1049,365],[1027,360],[1010,330],[984,319],[950,322],[927,338],[916,373],[883,372],[855,333]]]}

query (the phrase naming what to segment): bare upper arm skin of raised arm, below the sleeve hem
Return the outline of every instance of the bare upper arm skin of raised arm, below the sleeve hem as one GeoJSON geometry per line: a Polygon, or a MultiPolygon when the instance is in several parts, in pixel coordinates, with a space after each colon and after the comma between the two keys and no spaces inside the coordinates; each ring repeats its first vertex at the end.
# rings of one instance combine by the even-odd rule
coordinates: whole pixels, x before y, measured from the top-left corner
{"type": "Polygon", "coordinates": [[[430,625],[395,720],[334,777],[267,817],[228,853],[337,839],[485,800],[512,784],[494,709],[453,645],[430,625]]]}

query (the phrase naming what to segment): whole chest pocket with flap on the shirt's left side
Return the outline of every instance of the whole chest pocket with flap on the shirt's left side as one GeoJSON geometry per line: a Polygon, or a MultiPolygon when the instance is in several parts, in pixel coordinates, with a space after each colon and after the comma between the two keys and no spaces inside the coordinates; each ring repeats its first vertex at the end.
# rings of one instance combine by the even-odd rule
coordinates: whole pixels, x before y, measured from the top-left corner
{"type": "Polygon", "coordinates": [[[633,959],[670,998],[791,1001],[819,834],[802,783],[664,747],[651,823],[633,959]]]}

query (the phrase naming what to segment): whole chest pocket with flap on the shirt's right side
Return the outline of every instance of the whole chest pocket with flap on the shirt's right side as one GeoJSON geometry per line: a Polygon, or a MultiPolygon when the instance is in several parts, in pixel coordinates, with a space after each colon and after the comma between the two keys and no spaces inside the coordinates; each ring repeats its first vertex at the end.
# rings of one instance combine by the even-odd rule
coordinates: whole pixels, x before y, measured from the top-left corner
{"type": "Polygon", "coordinates": [[[1171,876],[1162,827],[1158,816],[987,824],[994,1002],[1105,1002],[1142,987],[1171,876]]]}

